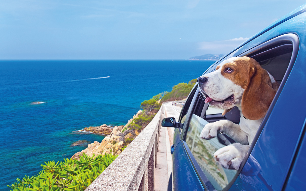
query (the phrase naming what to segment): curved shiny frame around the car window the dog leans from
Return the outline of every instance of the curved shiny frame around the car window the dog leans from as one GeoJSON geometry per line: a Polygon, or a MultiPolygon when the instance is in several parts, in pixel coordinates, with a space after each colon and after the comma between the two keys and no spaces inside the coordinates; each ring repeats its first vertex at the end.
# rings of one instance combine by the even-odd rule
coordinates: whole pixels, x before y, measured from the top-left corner
{"type": "MultiPolygon", "coordinates": [[[[236,57],[241,57],[241,56],[248,56],[250,55],[251,53],[254,53],[256,51],[260,51],[260,50],[263,50],[269,46],[272,46],[273,44],[276,44],[276,43],[279,43],[279,42],[289,42],[289,43],[292,43],[293,45],[293,50],[292,50],[292,54],[291,54],[291,58],[290,58],[290,61],[289,61],[289,64],[288,64],[288,68],[285,72],[285,75],[282,79],[282,82],[278,88],[278,91],[276,92],[271,104],[270,104],[270,107],[268,108],[267,110],[267,114],[264,116],[263,118],[263,121],[262,123],[260,124],[258,130],[257,130],[257,133],[254,137],[254,140],[252,141],[251,145],[250,145],[250,149],[248,150],[246,156],[244,157],[244,160],[242,161],[241,163],[241,166],[240,168],[238,169],[236,175],[233,177],[232,181],[229,182],[229,184],[224,188],[222,189],[222,191],[226,191],[228,189],[230,189],[230,187],[233,185],[233,183],[236,181],[237,177],[239,176],[239,174],[241,173],[241,170],[243,169],[246,161],[248,160],[255,144],[256,144],[256,141],[258,140],[259,138],[259,135],[260,133],[262,132],[264,126],[266,125],[267,123],[267,120],[269,119],[269,116],[274,108],[274,105],[276,104],[277,100],[278,100],[278,97],[279,95],[281,94],[282,92],[282,89],[289,77],[289,74],[293,68],[293,65],[296,61],[296,58],[297,58],[297,54],[298,54],[298,50],[299,50],[299,47],[300,47],[300,40],[299,40],[299,37],[297,36],[297,34],[295,33],[286,33],[286,34],[283,34],[283,35],[279,35],[279,36],[276,36],[270,40],[267,40],[266,42],[263,42],[257,46],[252,46],[252,48],[250,48],[249,50],[247,51],[244,51],[243,53],[240,53],[238,54],[236,57]]],[[[247,46],[247,44],[246,44],[247,46]]],[[[244,46],[241,46],[239,47],[240,48],[243,48],[244,46]]],[[[237,49],[238,50],[238,49],[237,49]]],[[[216,66],[218,64],[220,64],[222,61],[226,60],[228,58],[230,54],[228,54],[227,56],[225,57],[222,57],[222,59],[218,60],[217,62],[215,62],[211,67],[209,67],[205,72],[205,73],[209,73],[209,72],[212,72],[215,70],[216,66]]],[[[185,149],[185,152],[192,164],[192,167],[193,167],[193,170],[196,172],[197,174],[197,178],[198,180],[201,182],[201,184],[203,185],[203,188],[205,190],[208,190],[208,191],[217,191],[211,184],[211,182],[208,180],[208,178],[206,177],[206,175],[204,174],[204,172],[202,171],[200,165],[198,164],[198,162],[196,161],[195,157],[192,155],[186,141],[185,141],[185,138],[186,138],[186,134],[187,134],[187,127],[189,126],[190,124],[190,120],[191,120],[191,115],[192,115],[192,112],[194,111],[196,105],[195,105],[195,102],[197,101],[197,98],[198,98],[198,93],[200,92],[199,88],[196,87],[198,86],[198,83],[195,84],[195,86],[193,87],[192,91],[196,91],[195,94],[193,95],[193,98],[192,98],[192,101],[191,101],[191,106],[192,107],[189,107],[188,108],[188,111],[187,111],[187,117],[186,117],[186,120],[185,120],[185,123],[184,123],[184,128],[182,130],[182,134],[181,134],[181,142],[183,143],[183,146],[184,146],[184,149],[185,149]],[[186,123],[187,122],[187,123],[186,123]]],[[[181,117],[181,116],[180,116],[181,117]]]]}

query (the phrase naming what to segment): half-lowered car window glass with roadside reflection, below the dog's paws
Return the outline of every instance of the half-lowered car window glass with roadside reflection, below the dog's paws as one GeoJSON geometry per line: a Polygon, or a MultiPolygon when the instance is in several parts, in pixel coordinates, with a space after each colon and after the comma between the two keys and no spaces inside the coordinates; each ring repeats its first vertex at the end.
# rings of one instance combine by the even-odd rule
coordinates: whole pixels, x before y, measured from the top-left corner
{"type": "Polygon", "coordinates": [[[225,169],[215,161],[213,153],[224,147],[217,138],[200,139],[200,133],[207,123],[206,120],[192,114],[186,134],[186,143],[211,184],[215,189],[222,190],[233,179],[237,171],[225,169]]]}

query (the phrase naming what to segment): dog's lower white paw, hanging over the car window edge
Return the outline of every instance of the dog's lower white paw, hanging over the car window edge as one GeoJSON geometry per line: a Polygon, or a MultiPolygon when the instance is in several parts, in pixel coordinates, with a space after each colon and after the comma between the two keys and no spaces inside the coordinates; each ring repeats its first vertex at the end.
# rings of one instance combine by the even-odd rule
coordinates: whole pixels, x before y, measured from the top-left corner
{"type": "Polygon", "coordinates": [[[223,167],[238,170],[249,148],[250,145],[233,143],[218,149],[214,157],[223,167]]]}

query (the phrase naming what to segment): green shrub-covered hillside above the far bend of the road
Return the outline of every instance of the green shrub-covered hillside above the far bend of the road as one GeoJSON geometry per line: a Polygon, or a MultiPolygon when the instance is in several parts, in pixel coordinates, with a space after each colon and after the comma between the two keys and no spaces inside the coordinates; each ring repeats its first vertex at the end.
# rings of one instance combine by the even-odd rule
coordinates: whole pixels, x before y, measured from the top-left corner
{"type": "Polygon", "coordinates": [[[196,79],[192,79],[188,83],[178,83],[172,87],[171,92],[168,92],[162,97],[161,103],[165,101],[175,101],[187,98],[195,83],[196,79]]]}

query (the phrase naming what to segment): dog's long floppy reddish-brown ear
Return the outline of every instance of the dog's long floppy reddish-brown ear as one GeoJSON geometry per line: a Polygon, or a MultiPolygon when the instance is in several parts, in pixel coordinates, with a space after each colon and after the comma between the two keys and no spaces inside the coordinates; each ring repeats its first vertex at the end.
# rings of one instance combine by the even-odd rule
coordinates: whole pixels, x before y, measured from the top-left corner
{"type": "Polygon", "coordinates": [[[242,114],[251,120],[263,118],[276,94],[268,72],[251,59],[248,85],[241,100],[242,114]]]}

